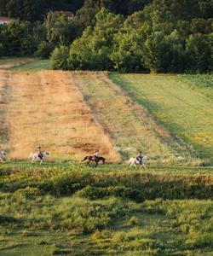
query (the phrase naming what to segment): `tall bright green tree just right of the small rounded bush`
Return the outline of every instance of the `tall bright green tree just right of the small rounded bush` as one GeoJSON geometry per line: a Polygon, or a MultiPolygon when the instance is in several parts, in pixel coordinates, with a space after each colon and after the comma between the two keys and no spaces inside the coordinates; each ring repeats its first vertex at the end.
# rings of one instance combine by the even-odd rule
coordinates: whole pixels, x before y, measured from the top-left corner
{"type": "Polygon", "coordinates": [[[96,15],[94,29],[87,28],[82,38],[73,42],[69,65],[71,69],[112,69],[113,38],[123,25],[123,17],[109,13],[102,8],[96,15]]]}

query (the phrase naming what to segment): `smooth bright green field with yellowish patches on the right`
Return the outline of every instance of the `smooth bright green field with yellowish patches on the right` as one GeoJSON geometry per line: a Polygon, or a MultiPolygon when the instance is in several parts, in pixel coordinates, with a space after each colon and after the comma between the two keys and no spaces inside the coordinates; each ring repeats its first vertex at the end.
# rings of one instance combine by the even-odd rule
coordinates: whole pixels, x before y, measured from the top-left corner
{"type": "Polygon", "coordinates": [[[110,78],[157,119],[188,150],[212,163],[212,75],[116,74],[110,78]]]}

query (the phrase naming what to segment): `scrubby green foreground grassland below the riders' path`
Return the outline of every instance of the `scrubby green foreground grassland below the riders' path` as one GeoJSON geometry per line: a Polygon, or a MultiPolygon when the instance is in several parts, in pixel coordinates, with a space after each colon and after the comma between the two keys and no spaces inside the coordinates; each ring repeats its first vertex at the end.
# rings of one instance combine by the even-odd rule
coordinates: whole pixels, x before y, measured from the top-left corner
{"type": "Polygon", "coordinates": [[[0,255],[211,255],[204,169],[5,164],[0,255]]]}

